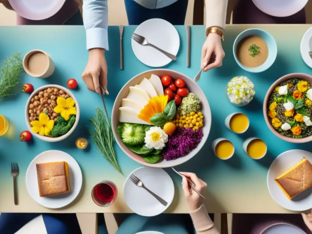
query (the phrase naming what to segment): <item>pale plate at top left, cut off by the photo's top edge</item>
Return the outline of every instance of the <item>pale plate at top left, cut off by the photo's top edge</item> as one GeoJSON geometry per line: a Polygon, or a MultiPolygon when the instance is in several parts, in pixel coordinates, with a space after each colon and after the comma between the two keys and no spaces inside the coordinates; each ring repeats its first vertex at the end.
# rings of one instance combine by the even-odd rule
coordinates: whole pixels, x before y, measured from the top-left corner
{"type": "Polygon", "coordinates": [[[8,0],[16,13],[26,19],[43,20],[55,15],[66,0],[8,0]]]}

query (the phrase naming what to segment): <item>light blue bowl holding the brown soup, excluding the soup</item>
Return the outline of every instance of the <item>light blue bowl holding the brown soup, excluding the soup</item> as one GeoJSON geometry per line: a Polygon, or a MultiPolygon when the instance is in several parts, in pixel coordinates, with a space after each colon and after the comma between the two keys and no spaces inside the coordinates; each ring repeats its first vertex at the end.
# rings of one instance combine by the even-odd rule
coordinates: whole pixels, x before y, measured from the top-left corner
{"type": "Polygon", "coordinates": [[[266,32],[262,29],[259,29],[259,28],[247,29],[247,30],[241,32],[236,37],[234,44],[233,44],[233,55],[234,55],[235,61],[238,64],[238,66],[240,66],[245,71],[249,71],[249,72],[253,72],[253,73],[262,72],[262,71],[265,71],[266,69],[268,69],[269,67],[271,67],[272,64],[274,63],[275,59],[276,59],[276,55],[277,55],[276,41],[274,40],[274,37],[270,33],[266,32]],[[250,37],[250,36],[261,37],[266,42],[266,45],[268,46],[268,49],[269,49],[269,54],[268,54],[266,61],[258,67],[244,66],[238,60],[238,57],[236,55],[236,49],[237,49],[237,45],[239,44],[239,42],[241,40],[243,40],[244,38],[250,37]]]}

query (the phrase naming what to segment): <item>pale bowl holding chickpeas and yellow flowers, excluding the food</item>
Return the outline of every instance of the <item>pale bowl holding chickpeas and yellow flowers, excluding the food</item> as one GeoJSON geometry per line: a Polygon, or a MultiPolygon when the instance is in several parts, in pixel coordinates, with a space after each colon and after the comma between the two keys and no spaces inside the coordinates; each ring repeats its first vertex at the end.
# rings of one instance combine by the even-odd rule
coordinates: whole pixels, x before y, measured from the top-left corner
{"type": "Polygon", "coordinates": [[[25,107],[25,120],[26,120],[26,125],[29,129],[29,131],[32,133],[33,136],[37,137],[38,139],[40,140],[43,140],[43,141],[47,141],[47,142],[57,142],[57,141],[61,141],[61,140],[64,140],[66,139],[70,134],[72,134],[72,132],[76,129],[77,125],[78,125],[78,122],[79,122],[79,117],[80,117],[80,108],[79,108],[79,105],[78,105],[78,101],[77,99],[75,98],[75,96],[71,93],[71,91],[69,91],[68,89],[66,89],[65,87],[61,86],[61,85],[43,85],[41,86],[40,88],[34,90],[32,92],[32,94],[29,96],[28,100],[27,100],[27,103],[26,103],[26,107],[25,107]],[[29,122],[29,113],[28,113],[28,110],[29,110],[29,104],[30,104],[30,100],[36,96],[40,91],[42,90],[45,90],[47,88],[51,88],[51,87],[54,87],[54,88],[58,88],[60,90],[64,90],[68,95],[71,96],[71,98],[75,101],[75,106],[76,106],[76,121],[73,125],[73,127],[69,130],[68,133],[66,133],[65,135],[63,136],[60,136],[60,137],[48,137],[48,136],[41,136],[40,134],[37,134],[37,133],[33,133],[32,132],[32,125],[30,125],[30,122],[29,122]]]}

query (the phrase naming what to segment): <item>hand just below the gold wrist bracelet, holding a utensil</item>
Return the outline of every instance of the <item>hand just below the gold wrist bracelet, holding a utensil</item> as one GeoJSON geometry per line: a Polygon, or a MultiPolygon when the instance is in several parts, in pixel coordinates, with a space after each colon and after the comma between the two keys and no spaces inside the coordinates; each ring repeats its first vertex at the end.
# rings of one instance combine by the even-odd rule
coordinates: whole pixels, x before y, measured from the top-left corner
{"type": "Polygon", "coordinates": [[[225,53],[222,49],[221,37],[217,33],[209,33],[204,45],[202,46],[201,66],[203,71],[208,71],[215,67],[222,66],[225,53]]]}

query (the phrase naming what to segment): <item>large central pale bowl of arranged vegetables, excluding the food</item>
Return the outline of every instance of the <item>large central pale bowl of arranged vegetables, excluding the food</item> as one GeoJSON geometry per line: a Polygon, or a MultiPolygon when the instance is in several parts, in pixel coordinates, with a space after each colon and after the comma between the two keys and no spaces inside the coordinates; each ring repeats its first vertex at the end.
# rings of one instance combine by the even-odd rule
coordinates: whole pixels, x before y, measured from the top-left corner
{"type": "Polygon", "coordinates": [[[117,144],[122,149],[122,151],[124,151],[124,153],[127,154],[134,161],[141,163],[142,165],[149,166],[149,167],[157,167],[157,168],[174,167],[182,163],[185,163],[189,159],[193,158],[205,144],[208,138],[208,134],[210,132],[210,127],[211,127],[211,111],[210,111],[208,100],[204,92],[188,76],[185,76],[182,73],[179,73],[177,71],[172,71],[168,69],[155,69],[155,70],[146,71],[130,79],[124,85],[124,87],[122,87],[122,89],[120,90],[119,94],[116,97],[116,100],[113,106],[112,116],[114,116],[114,118],[112,118],[111,120],[114,137],[116,139],[117,144]],[[197,148],[193,149],[188,155],[185,155],[181,158],[177,158],[177,159],[170,160],[170,161],[166,161],[164,159],[161,162],[155,163],[155,164],[145,162],[143,157],[133,153],[130,149],[128,149],[128,147],[122,142],[116,130],[117,126],[119,125],[119,115],[120,115],[119,107],[121,106],[122,99],[125,98],[129,94],[129,86],[138,85],[143,80],[144,77],[148,79],[151,76],[151,74],[157,75],[159,77],[163,75],[169,75],[173,79],[178,79],[178,78],[183,79],[185,81],[185,86],[188,88],[189,92],[196,94],[197,97],[202,101],[201,112],[204,116],[204,122],[203,122],[204,126],[202,127],[203,137],[200,143],[197,145],[197,148]]]}

